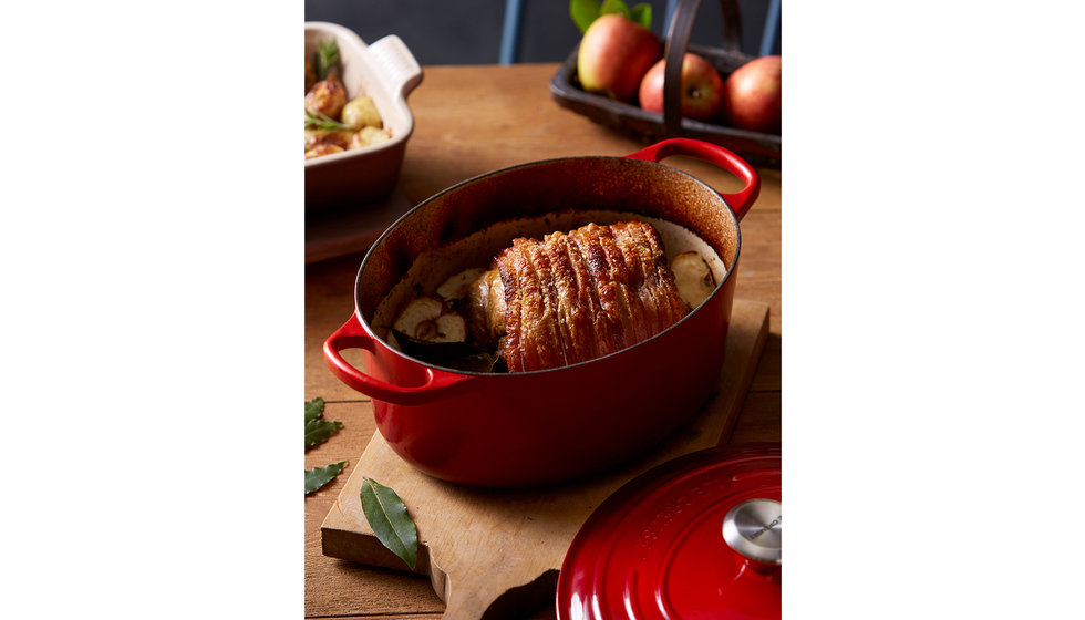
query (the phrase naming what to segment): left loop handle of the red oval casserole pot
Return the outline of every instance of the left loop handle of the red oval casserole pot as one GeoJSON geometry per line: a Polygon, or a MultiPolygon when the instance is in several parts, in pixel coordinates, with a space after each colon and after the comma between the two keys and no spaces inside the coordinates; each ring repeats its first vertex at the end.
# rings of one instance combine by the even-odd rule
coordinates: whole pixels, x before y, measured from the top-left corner
{"type": "Polygon", "coordinates": [[[358,314],[351,314],[343,327],[324,341],[324,362],[332,374],[340,381],[374,399],[397,405],[420,405],[433,402],[458,392],[472,376],[453,374],[434,369],[425,369],[426,381],[422,385],[402,388],[372,376],[355,369],[339,354],[343,349],[365,349],[370,353],[375,350],[375,339],[365,333],[358,314]]]}

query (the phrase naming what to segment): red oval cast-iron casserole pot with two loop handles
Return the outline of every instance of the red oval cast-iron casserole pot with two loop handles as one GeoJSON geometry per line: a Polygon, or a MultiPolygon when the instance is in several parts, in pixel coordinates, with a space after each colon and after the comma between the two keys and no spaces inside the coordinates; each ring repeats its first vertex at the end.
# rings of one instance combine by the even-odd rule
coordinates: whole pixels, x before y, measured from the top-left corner
{"type": "Polygon", "coordinates": [[[359,268],[354,313],[324,342],[324,359],[335,376],[372,397],[389,446],[432,476],[509,487],[599,471],[675,431],[719,384],[738,220],[760,188],[756,172],[737,155],[685,138],[627,157],[547,159],[468,179],[407,211],[374,242],[359,268]],[[744,187],[719,194],[659,163],[672,155],[721,166],[744,187]],[[709,299],[649,340],[565,368],[476,373],[410,358],[382,338],[391,324],[386,300],[406,299],[410,287],[401,280],[431,275],[440,281],[484,267],[514,236],[541,238],[588,221],[630,218],[693,231],[722,260],[709,299]],[[459,249],[434,254],[447,247],[459,249]],[[364,371],[340,353],[356,348],[364,371]]]}

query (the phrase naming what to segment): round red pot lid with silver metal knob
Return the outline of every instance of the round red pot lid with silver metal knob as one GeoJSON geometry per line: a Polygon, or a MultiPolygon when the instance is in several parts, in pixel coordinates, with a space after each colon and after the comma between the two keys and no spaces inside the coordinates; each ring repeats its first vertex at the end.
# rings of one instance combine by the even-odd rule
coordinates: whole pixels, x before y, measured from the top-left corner
{"type": "Polygon", "coordinates": [[[620,488],[558,576],[560,620],[781,617],[778,444],[696,452],[620,488]]]}

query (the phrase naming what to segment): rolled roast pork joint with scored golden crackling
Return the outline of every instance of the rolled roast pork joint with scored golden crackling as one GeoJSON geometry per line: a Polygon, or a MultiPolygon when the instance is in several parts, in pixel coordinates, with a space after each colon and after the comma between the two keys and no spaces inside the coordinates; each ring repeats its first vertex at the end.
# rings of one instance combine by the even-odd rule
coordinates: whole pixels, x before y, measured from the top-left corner
{"type": "Polygon", "coordinates": [[[468,292],[472,338],[500,341],[509,372],[620,351],[686,311],[659,234],[641,221],[515,239],[468,292]]]}

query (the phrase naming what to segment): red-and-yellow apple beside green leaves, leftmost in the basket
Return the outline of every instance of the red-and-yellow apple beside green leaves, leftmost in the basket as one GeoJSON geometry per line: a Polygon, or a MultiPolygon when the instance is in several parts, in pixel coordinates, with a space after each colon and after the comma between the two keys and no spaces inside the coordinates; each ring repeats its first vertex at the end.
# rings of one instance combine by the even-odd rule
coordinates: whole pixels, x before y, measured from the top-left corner
{"type": "Polygon", "coordinates": [[[618,13],[601,16],[580,40],[580,85],[589,93],[631,102],[641,78],[662,55],[663,43],[651,30],[618,13]]]}

